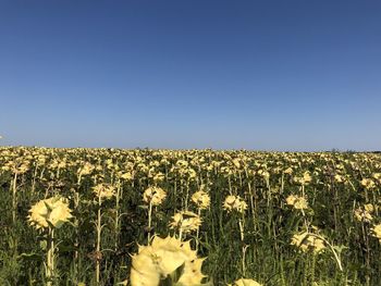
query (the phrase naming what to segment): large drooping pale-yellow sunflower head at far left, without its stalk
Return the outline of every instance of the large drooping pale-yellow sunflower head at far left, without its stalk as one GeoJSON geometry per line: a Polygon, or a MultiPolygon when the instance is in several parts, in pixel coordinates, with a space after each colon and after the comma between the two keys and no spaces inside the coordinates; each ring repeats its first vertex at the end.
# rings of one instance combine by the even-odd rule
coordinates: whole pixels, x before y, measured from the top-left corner
{"type": "Polygon", "coordinates": [[[62,197],[52,197],[34,204],[29,210],[28,221],[37,229],[48,228],[50,225],[60,228],[71,217],[67,200],[62,197]]]}

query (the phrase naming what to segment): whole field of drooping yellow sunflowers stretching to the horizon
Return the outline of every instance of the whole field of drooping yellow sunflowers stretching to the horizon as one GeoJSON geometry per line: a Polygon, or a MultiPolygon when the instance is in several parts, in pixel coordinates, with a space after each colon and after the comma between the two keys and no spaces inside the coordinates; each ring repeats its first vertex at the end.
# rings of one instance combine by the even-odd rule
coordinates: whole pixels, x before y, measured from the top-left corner
{"type": "Polygon", "coordinates": [[[381,154],[0,147],[0,285],[381,285],[381,154]]]}

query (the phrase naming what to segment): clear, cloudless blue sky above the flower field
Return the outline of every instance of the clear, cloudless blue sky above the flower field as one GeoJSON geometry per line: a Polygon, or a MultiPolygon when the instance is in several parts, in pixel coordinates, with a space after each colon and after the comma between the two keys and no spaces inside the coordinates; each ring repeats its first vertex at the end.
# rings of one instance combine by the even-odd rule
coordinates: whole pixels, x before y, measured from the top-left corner
{"type": "Polygon", "coordinates": [[[0,145],[381,149],[381,2],[0,1],[0,145]]]}

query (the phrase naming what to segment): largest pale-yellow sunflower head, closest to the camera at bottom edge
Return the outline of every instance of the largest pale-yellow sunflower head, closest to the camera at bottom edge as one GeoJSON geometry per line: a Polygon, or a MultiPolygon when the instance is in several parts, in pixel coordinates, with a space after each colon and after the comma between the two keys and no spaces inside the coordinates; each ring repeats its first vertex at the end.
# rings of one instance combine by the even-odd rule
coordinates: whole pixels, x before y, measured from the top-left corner
{"type": "Polygon", "coordinates": [[[206,277],[201,273],[204,260],[197,258],[189,241],[155,236],[150,245],[139,246],[138,253],[132,256],[131,285],[158,286],[181,266],[184,269],[179,285],[201,285],[206,277]]]}

